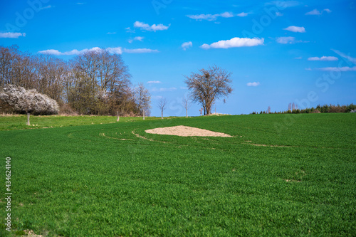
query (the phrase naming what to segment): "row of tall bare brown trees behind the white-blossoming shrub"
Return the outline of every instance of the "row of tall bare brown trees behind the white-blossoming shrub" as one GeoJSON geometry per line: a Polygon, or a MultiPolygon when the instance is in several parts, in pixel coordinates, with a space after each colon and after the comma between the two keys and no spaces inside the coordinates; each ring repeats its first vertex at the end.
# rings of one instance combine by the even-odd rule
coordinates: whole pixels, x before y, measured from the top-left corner
{"type": "MultiPolygon", "coordinates": [[[[98,48],[71,60],[0,46],[0,89],[17,85],[56,100],[62,110],[91,115],[150,115],[150,93],[133,86],[120,54],[98,48]]],[[[66,111],[64,111],[66,112],[66,111]]]]}

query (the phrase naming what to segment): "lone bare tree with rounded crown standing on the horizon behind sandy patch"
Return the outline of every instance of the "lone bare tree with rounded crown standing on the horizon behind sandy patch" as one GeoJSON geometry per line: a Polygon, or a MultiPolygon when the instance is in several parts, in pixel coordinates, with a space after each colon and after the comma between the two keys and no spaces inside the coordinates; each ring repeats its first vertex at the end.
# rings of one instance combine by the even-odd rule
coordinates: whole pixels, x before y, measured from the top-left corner
{"type": "Polygon", "coordinates": [[[193,102],[199,102],[204,108],[204,115],[211,114],[211,106],[215,100],[228,96],[232,92],[231,73],[214,65],[200,69],[199,73],[184,76],[193,102]]]}

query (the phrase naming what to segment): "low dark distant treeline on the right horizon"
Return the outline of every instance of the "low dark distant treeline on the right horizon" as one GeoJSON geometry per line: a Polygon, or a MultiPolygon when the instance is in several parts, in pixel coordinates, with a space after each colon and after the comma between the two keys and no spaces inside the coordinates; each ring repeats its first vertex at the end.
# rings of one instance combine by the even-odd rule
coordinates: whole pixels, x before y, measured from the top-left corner
{"type": "MultiPolygon", "coordinates": [[[[280,112],[268,112],[261,111],[259,114],[311,114],[311,113],[325,113],[325,112],[352,112],[356,111],[356,105],[318,105],[317,107],[306,108],[303,110],[300,109],[290,109],[280,112]]],[[[252,112],[251,115],[257,115],[258,112],[252,112]]]]}

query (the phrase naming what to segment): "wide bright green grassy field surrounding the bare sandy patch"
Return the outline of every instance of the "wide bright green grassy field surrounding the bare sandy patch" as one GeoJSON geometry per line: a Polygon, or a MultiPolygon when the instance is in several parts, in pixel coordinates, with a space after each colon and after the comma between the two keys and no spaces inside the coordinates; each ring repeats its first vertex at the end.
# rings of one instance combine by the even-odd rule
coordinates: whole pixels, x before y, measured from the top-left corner
{"type": "Polygon", "coordinates": [[[36,120],[0,117],[9,236],[356,236],[355,114],[36,120]]]}

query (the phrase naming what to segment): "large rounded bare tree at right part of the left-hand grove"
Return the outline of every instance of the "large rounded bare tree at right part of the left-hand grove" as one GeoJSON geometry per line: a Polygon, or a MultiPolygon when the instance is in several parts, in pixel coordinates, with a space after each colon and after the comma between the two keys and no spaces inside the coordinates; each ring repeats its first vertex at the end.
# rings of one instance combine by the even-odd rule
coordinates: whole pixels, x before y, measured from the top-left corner
{"type": "Polygon", "coordinates": [[[73,88],[69,95],[73,107],[98,114],[114,114],[122,107],[122,93],[127,93],[131,83],[119,54],[98,48],[76,56],[71,64],[74,80],[70,81],[73,88]]]}

